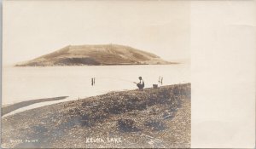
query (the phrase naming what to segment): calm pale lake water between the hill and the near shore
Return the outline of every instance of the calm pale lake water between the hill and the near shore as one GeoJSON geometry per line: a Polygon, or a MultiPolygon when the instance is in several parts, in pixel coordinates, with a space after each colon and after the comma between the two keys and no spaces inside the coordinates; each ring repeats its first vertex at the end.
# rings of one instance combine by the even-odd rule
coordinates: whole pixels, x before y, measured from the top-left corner
{"type": "Polygon", "coordinates": [[[50,66],[3,67],[3,105],[56,96],[78,99],[113,90],[137,89],[139,76],[145,87],[163,77],[163,85],[188,83],[189,65],[154,66],[50,66]],[[91,77],[96,77],[91,86],[91,77]]]}

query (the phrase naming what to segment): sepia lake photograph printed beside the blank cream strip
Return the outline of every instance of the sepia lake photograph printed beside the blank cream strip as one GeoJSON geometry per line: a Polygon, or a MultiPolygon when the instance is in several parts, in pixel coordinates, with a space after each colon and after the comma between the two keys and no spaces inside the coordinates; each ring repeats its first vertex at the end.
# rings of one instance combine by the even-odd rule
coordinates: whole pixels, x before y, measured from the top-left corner
{"type": "Polygon", "coordinates": [[[189,1],[3,1],[3,148],[190,148],[189,1]]]}

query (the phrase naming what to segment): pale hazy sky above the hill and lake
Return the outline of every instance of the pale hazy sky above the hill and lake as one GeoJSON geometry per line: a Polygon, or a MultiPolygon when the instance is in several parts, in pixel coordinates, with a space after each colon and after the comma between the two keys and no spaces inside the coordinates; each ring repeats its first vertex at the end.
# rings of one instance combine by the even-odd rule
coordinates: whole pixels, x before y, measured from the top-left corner
{"type": "Polygon", "coordinates": [[[4,1],[3,64],[104,43],[189,59],[189,13],[189,1],[4,1]]]}

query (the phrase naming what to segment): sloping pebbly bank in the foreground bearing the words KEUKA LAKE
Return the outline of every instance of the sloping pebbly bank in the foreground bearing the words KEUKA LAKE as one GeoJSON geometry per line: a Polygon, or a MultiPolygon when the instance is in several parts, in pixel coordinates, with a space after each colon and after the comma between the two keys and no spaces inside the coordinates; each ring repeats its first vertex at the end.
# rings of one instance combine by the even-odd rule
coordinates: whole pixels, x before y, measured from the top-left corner
{"type": "Polygon", "coordinates": [[[190,83],[112,92],[2,119],[2,147],[190,147],[190,83]]]}

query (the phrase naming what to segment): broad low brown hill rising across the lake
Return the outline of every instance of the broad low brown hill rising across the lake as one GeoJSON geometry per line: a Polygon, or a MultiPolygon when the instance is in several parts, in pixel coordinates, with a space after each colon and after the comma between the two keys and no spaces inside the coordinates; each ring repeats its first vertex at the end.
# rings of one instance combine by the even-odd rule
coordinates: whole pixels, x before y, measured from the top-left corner
{"type": "Polygon", "coordinates": [[[170,64],[159,56],[118,44],[69,45],[15,66],[105,66],[170,64]]]}

